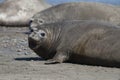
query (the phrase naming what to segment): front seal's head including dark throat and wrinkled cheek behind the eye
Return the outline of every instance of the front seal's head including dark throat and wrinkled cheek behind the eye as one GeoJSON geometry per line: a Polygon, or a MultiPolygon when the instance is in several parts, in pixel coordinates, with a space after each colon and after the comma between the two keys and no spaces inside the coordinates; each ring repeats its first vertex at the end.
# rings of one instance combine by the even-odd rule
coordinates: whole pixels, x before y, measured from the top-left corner
{"type": "Polygon", "coordinates": [[[56,53],[53,34],[49,29],[33,30],[28,36],[28,44],[43,59],[50,59],[56,53]]]}

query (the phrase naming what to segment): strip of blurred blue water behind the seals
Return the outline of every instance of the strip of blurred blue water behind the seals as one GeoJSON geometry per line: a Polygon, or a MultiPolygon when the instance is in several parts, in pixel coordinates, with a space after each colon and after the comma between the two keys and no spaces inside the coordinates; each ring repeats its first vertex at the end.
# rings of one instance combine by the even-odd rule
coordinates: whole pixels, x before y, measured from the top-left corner
{"type": "MultiPolygon", "coordinates": [[[[4,0],[0,0],[2,2],[4,0]]],[[[48,3],[52,5],[65,3],[65,2],[102,2],[107,4],[113,4],[113,5],[120,5],[120,0],[46,0],[48,3]]]]}

